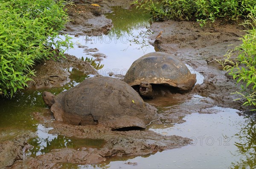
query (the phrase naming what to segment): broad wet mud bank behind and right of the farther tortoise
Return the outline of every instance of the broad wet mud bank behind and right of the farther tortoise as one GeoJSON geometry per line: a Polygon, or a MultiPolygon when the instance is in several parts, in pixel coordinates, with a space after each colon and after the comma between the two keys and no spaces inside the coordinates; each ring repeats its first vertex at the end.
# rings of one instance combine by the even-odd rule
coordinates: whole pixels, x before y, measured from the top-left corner
{"type": "Polygon", "coordinates": [[[243,110],[243,101],[233,101],[239,96],[230,94],[239,91],[239,87],[215,60],[223,59],[229,49],[242,43],[239,39],[244,34],[242,29],[221,20],[204,28],[194,22],[168,20],[151,25],[151,30],[155,32],[151,35],[151,43],[159,51],[175,54],[204,75],[204,83],[196,85],[192,93],[212,99],[212,106],[243,110]],[[163,33],[156,39],[160,31],[163,33]]]}

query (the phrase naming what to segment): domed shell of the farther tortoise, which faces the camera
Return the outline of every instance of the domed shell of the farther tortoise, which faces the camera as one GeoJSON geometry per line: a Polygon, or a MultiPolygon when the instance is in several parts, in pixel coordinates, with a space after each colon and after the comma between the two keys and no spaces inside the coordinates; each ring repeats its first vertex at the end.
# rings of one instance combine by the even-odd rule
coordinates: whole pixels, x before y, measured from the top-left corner
{"type": "Polygon", "coordinates": [[[175,55],[151,52],[133,62],[124,81],[131,86],[148,82],[187,91],[195,85],[196,75],[175,55]]]}

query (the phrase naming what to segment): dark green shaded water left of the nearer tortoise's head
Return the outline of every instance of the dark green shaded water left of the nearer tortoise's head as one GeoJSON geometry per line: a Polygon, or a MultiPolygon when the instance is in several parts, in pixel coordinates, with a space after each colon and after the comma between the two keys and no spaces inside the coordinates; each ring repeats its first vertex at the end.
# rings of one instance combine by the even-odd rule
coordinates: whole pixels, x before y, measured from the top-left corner
{"type": "MultiPolygon", "coordinates": [[[[34,119],[34,112],[44,113],[46,106],[42,99],[42,93],[47,90],[55,95],[71,87],[76,86],[90,75],[68,68],[70,73],[70,83],[63,87],[39,90],[18,90],[12,99],[0,97],[0,134],[12,132],[10,130],[37,130],[38,121],[34,119]]],[[[0,135],[0,136],[1,136],[0,135]]]]}

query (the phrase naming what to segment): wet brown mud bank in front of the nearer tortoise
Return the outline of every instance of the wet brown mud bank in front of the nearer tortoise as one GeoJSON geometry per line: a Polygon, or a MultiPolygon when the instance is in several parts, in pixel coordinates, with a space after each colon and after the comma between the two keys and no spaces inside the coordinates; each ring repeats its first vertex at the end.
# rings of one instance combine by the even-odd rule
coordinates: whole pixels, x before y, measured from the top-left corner
{"type": "MultiPolygon", "coordinates": [[[[111,131],[102,125],[76,126],[49,121],[52,116],[35,113],[35,118],[45,127],[53,127],[50,134],[76,138],[101,139],[105,144],[100,149],[81,147],[80,149],[53,149],[51,152],[17,161],[11,169],[29,166],[32,169],[58,168],[58,163],[95,164],[114,156],[148,155],[166,149],[179,148],[189,144],[189,138],[164,136],[150,130],[111,131]]],[[[17,159],[20,160],[20,159],[17,159]]]]}

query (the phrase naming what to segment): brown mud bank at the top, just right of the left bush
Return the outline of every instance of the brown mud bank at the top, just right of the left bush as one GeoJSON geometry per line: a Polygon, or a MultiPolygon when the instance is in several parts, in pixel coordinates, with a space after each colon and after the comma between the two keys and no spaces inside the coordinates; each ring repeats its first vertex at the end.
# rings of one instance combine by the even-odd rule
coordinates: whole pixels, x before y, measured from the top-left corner
{"type": "Polygon", "coordinates": [[[132,0],[73,0],[74,6],[68,8],[70,22],[62,31],[76,36],[100,36],[113,27],[112,20],[103,14],[112,12],[112,7],[128,8],[132,0]],[[96,4],[99,6],[92,6],[96,4]]]}

